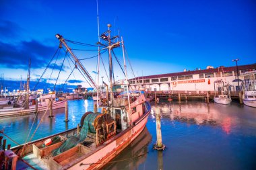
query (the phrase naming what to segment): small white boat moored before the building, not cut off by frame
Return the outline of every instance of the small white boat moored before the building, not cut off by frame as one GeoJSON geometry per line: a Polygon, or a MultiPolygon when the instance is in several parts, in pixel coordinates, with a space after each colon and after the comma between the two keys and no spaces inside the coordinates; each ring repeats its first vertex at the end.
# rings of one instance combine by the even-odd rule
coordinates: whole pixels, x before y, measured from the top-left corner
{"type": "Polygon", "coordinates": [[[224,85],[224,81],[222,80],[214,81],[214,90],[215,90],[214,102],[225,104],[225,105],[231,103],[232,99],[230,97],[228,83],[224,85]],[[216,89],[216,87],[218,89],[216,89]]]}

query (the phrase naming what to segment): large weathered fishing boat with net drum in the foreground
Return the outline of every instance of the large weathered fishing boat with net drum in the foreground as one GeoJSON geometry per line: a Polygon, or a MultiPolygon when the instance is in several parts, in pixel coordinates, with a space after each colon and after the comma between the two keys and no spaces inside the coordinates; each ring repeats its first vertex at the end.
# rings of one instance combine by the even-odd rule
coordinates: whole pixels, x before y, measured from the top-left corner
{"type": "MultiPolygon", "coordinates": [[[[98,89],[84,65],[67,46],[63,36],[57,34],[56,37],[73,56],[77,68],[98,89]]],[[[108,31],[100,37],[108,42],[105,47],[110,60],[110,92],[107,91],[108,95],[98,105],[101,112],[97,108],[95,112],[86,112],[77,128],[3,151],[0,160],[7,160],[11,155],[11,166],[15,169],[100,169],[141,134],[151,112],[150,103],[146,101],[143,93],[113,95],[111,51],[122,45],[124,52],[124,44],[123,40],[113,42],[115,38],[110,37],[110,24],[108,31]]],[[[127,79],[124,53],[123,58],[127,79]]]]}

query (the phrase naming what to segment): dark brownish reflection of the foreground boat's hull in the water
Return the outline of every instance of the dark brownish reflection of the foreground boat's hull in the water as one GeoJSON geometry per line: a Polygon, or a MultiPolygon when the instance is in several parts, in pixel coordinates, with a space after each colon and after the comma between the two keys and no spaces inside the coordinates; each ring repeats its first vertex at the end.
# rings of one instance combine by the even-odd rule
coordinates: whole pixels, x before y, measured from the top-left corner
{"type": "Polygon", "coordinates": [[[145,128],[137,138],[125,148],[113,161],[121,161],[119,163],[110,163],[104,169],[136,169],[143,164],[147,159],[148,144],[152,141],[152,136],[145,128]],[[141,155],[140,157],[137,157],[141,155]],[[134,159],[131,159],[135,157],[134,159]],[[127,160],[128,159],[128,160],[127,160]]]}

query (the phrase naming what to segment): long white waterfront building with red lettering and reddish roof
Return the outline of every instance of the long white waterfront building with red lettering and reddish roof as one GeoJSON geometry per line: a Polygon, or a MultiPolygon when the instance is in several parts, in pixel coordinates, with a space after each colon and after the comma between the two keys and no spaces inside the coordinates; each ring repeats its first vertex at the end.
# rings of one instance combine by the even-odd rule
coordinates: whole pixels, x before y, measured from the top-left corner
{"type": "Polygon", "coordinates": [[[255,77],[256,64],[218,68],[208,66],[203,70],[187,71],[184,69],[179,73],[135,77],[129,79],[129,88],[144,91],[205,93],[205,91],[214,91],[214,81],[222,80],[230,85],[230,91],[239,91],[241,87],[238,87],[238,81],[242,85],[243,79],[255,79],[255,77]]]}

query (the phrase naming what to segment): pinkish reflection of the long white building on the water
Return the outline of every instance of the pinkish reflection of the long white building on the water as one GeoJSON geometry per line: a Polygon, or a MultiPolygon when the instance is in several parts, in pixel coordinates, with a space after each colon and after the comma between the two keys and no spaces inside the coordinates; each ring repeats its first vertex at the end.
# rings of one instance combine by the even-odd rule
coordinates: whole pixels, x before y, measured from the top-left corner
{"type": "MultiPolygon", "coordinates": [[[[240,108],[238,105],[221,105],[217,103],[160,103],[162,118],[186,124],[197,124],[199,126],[220,126],[226,134],[230,134],[236,128],[248,126],[248,118],[243,117],[247,109],[251,118],[255,118],[255,108],[240,108]]],[[[154,110],[152,106],[152,110],[154,110]]],[[[153,112],[154,113],[154,112],[153,112]]],[[[154,115],[152,115],[154,119],[154,115]]],[[[249,124],[253,127],[255,123],[249,124]]],[[[253,130],[255,132],[255,130],[253,130]]]]}

